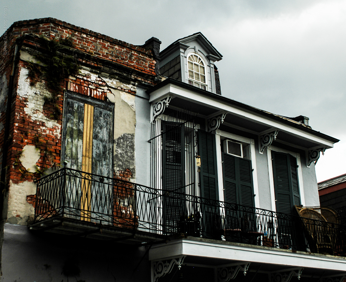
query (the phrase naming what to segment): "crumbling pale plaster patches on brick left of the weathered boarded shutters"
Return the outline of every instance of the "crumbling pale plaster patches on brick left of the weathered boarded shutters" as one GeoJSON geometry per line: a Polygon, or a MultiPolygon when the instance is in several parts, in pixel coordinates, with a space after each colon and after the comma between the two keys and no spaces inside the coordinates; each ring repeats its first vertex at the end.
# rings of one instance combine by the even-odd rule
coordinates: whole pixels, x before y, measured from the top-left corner
{"type": "MultiPolygon", "coordinates": [[[[25,67],[19,68],[19,78],[17,87],[17,98],[21,103],[25,104],[24,113],[25,119],[30,120],[37,125],[32,128],[24,124],[20,124],[19,120],[15,120],[15,129],[13,138],[22,136],[19,142],[22,148],[17,147],[19,158],[17,163],[23,166],[24,171],[21,171],[22,178],[16,178],[9,182],[7,222],[11,224],[26,225],[28,220],[32,220],[34,216],[34,208],[26,201],[27,195],[36,193],[36,184],[33,180],[26,180],[24,173],[35,173],[37,168],[42,165],[40,163],[41,152],[34,141],[29,139],[30,135],[36,134],[37,138],[44,139],[45,136],[52,136],[56,140],[61,139],[61,124],[54,119],[50,119],[44,114],[45,96],[50,97],[51,93],[46,89],[44,82],[36,82],[32,84],[28,76],[28,69],[25,67]],[[23,132],[25,131],[26,132],[23,132]],[[21,150],[20,150],[21,149],[21,150]],[[25,181],[26,180],[26,181],[25,181]]],[[[21,114],[19,114],[20,116],[21,114]]],[[[18,116],[18,115],[16,115],[18,116]]],[[[15,164],[13,164],[13,167],[15,164]]],[[[21,170],[23,170],[21,169],[21,170]]]]}

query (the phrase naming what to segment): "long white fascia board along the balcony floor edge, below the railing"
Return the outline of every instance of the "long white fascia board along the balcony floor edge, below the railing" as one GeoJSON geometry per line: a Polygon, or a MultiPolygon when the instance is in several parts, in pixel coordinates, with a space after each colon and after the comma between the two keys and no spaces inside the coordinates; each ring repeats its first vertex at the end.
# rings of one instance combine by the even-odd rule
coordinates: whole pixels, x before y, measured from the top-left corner
{"type": "Polygon", "coordinates": [[[272,265],[286,265],[346,271],[344,257],[305,252],[293,253],[290,250],[237,244],[208,239],[178,239],[167,244],[153,245],[149,251],[149,260],[163,260],[166,257],[195,256],[235,261],[247,261],[272,265]],[[215,241],[214,241],[215,242],[215,241]]]}

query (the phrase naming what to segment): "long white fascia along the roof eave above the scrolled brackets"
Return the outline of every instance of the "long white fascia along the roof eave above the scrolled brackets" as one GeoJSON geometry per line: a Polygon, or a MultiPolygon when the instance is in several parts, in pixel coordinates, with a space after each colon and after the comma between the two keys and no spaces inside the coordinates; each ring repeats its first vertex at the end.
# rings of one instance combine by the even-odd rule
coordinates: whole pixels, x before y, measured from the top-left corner
{"type": "MultiPolygon", "coordinates": [[[[248,120],[255,121],[259,124],[263,124],[263,125],[266,125],[266,126],[269,126],[272,128],[277,128],[280,131],[283,131],[283,132],[288,133],[290,135],[297,136],[297,137],[304,139],[304,140],[316,142],[320,145],[324,145],[324,146],[327,146],[330,148],[333,147],[333,144],[334,144],[333,142],[331,142],[329,140],[326,140],[324,138],[310,134],[310,133],[303,131],[301,129],[291,127],[289,125],[283,124],[279,121],[272,120],[270,118],[258,116],[251,111],[247,111],[244,109],[237,108],[235,106],[225,104],[224,102],[217,100],[216,98],[206,97],[203,94],[200,94],[200,93],[197,93],[197,92],[194,92],[191,90],[187,90],[185,88],[179,87],[179,86],[174,85],[174,84],[167,84],[164,87],[153,91],[150,94],[149,102],[158,100],[166,94],[175,95],[175,97],[180,97],[184,100],[189,100],[189,101],[195,102],[197,104],[204,104],[210,108],[215,108],[218,110],[224,110],[224,111],[227,111],[229,113],[232,113],[233,115],[237,115],[239,117],[243,117],[243,118],[246,118],[248,120]]],[[[299,124],[298,122],[292,121],[292,124],[294,124],[294,123],[299,124]]]]}

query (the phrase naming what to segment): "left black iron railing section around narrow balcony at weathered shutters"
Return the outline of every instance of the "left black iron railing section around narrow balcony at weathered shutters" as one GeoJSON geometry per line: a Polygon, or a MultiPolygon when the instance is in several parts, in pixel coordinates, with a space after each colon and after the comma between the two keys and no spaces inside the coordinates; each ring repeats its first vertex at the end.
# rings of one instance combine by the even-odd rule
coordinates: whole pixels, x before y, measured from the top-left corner
{"type": "Polygon", "coordinates": [[[66,217],[159,234],[160,191],[63,168],[37,181],[34,222],[66,217]]]}

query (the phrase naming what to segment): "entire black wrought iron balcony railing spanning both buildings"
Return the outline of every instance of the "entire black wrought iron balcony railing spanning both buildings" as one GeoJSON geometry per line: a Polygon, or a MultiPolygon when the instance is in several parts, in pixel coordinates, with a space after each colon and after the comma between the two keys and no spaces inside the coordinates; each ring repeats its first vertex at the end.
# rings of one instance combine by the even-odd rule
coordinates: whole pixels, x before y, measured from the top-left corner
{"type": "Polygon", "coordinates": [[[162,191],[69,168],[37,181],[34,223],[54,217],[165,237],[204,237],[333,255],[346,252],[343,225],[162,191]]]}

